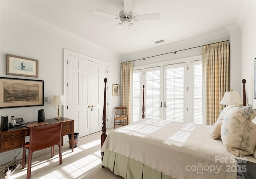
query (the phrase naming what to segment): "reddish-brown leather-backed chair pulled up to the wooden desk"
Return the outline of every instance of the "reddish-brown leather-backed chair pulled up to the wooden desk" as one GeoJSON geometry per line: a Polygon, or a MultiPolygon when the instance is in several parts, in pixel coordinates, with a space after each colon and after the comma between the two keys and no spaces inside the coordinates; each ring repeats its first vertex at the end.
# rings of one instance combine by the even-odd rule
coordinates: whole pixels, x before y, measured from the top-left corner
{"type": "Polygon", "coordinates": [[[28,149],[27,179],[31,177],[32,154],[34,151],[49,147],[53,149],[54,145],[58,145],[60,164],[62,164],[61,129],[62,122],[30,127],[29,142],[25,143],[22,155],[22,169],[24,169],[26,165],[26,149],[28,149]]]}

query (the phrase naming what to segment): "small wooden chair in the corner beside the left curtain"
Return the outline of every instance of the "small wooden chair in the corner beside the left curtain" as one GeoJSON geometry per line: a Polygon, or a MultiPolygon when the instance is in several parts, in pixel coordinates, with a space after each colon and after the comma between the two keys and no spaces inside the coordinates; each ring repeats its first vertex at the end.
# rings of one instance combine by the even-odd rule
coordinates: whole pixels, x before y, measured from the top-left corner
{"type": "Polygon", "coordinates": [[[126,107],[115,107],[115,111],[114,129],[116,128],[116,125],[128,125],[128,115],[126,112],[126,107]],[[120,122],[117,122],[117,120],[120,120],[120,122]]]}

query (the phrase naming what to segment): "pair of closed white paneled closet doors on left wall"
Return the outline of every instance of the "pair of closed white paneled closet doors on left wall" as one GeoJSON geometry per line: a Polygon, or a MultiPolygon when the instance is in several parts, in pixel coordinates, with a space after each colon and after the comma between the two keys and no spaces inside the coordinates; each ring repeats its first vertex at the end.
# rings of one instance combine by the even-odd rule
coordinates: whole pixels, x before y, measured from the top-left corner
{"type": "Polygon", "coordinates": [[[74,119],[74,131],[79,137],[102,129],[104,78],[108,66],[67,55],[66,117],[74,119]]]}

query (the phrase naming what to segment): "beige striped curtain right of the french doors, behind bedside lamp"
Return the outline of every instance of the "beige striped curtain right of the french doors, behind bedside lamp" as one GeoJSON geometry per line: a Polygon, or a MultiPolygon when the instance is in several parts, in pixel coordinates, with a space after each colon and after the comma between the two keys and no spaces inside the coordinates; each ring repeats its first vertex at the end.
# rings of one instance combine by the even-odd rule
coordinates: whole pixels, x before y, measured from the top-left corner
{"type": "Polygon", "coordinates": [[[202,47],[204,124],[213,125],[222,109],[220,101],[230,91],[229,43],[219,42],[202,47]]]}

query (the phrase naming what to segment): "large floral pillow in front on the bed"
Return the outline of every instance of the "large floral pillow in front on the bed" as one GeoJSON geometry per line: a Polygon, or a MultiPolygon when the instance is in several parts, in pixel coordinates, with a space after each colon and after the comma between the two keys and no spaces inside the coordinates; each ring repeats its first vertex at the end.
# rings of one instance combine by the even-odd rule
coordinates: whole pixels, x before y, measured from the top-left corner
{"type": "Polygon", "coordinates": [[[221,138],[226,149],[236,156],[254,153],[256,124],[252,119],[256,111],[251,105],[232,107],[225,114],[221,126],[221,138]]]}

